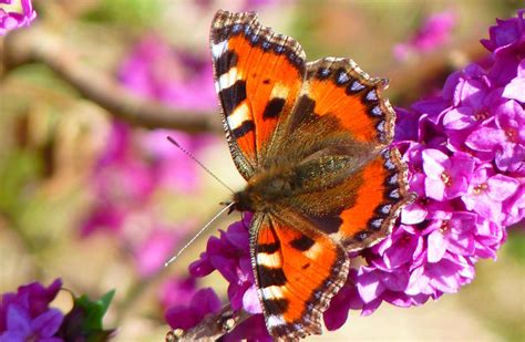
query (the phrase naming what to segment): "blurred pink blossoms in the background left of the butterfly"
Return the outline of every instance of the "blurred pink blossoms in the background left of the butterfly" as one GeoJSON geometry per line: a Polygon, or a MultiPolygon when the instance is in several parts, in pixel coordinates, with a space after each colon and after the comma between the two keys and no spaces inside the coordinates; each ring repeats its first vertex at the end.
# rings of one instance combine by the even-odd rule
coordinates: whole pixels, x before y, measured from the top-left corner
{"type": "MultiPolygon", "coordinates": [[[[134,48],[119,77],[137,95],[174,108],[212,111],[216,106],[212,66],[205,58],[174,50],[156,37],[147,37],[134,48]]],[[[174,229],[158,213],[158,194],[187,194],[199,184],[196,164],[166,136],[194,154],[212,142],[207,135],[138,131],[113,122],[109,143],[92,174],[96,200],[82,226],[83,236],[101,229],[117,235],[134,255],[142,277],[155,273],[191,229],[188,222],[174,229]]]]}

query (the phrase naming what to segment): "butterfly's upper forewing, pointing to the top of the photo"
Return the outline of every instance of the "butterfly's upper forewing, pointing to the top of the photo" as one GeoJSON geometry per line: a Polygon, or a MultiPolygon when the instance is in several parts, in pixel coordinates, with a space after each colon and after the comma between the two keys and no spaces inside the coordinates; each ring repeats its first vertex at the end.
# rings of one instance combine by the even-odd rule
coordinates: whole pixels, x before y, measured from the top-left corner
{"type": "Polygon", "coordinates": [[[255,13],[227,11],[218,11],[213,20],[210,49],[231,156],[249,179],[296,103],[306,73],[305,52],[294,39],[262,27],[255,13]]]}

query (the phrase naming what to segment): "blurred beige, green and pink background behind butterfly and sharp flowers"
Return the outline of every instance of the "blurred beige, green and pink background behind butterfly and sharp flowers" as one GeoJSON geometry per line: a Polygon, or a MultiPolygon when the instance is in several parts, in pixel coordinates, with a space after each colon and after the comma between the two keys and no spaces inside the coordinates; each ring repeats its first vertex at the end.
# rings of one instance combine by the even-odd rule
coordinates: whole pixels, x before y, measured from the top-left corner
{"type": "MultiPolygon", "coordinates": [[[[483,60],[480,39],[519,4],[33,1],[33,24],[0,39],[0,292],[58,277],[93,298],[116,289],[105,321],[117,327],[115,341],[164,339],[165,309],[191,287],[188,263],[208,235],[240,218],[222,216],[163,267],[229,194],[166,135],[230,187],[243,186],[213,86],[208,29],[217,9],[256,10],[264,24],[296,38],[309,60],[352,58],[391,79],[391,102],[409,106],[453,70],[483,60]],[[437,38],[425,42],[425,29],[437,38]]],[[[383,304],[367,318],[352,312],[342,329],[311,340],[523,341],[524,231],[523,224],[511,228],[498,260],[478,262],[460,293],[421,308],[383,304]]],[[[226,297],[220,278],[204,284],[226,297]]]]}

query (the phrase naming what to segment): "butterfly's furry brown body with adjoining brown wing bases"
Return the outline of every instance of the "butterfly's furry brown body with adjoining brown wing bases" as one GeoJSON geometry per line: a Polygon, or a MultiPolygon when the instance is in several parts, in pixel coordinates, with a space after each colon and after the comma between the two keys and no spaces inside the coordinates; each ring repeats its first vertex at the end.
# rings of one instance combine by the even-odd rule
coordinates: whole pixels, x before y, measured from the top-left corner
{"type": "MultiPolygon", "coordinates": [[[[313,144],[299,154],[295,148],[288,151],[292,155],[285,152],[276,156],[234,196],[237,210],[271,213],[274,207],[285,206],[305,214],[322,215],[350,205],[353,191],[348,179],[359,178],[354,172],[367,160],[366,156],[358,157],[344,145],[323,147],[313,144]],[[305,196],[310,199],[305,200],[305,196]]],[[[370,153],[373,155],[372,151],[370,153]]]]}

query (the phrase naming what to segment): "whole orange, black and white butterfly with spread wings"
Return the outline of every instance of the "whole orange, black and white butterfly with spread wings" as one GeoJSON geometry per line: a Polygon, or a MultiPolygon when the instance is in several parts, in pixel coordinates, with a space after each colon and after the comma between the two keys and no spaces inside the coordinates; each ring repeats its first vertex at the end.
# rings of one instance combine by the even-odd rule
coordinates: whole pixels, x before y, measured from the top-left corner
{"type": "Polygon", "coordinates": [[[250,256],[276,339],[321,333],[350,251],[391,231],[412,200],[391,147],[395,113],[352,60],[306,61],[300,44],[253,12],[218,11],[215,86],[234,163],[247,180],[234,207],[251,211],[250,256]]]}

